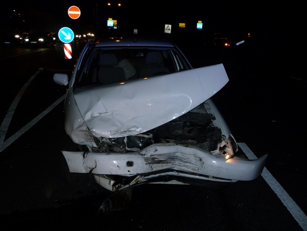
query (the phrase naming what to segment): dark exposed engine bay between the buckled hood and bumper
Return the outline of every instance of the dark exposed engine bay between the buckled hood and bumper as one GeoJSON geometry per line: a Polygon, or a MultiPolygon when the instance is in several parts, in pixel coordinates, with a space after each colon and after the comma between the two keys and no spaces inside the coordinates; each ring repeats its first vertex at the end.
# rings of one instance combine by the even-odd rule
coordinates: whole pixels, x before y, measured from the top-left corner
{"type": "Polygon", "coordinates": [[[95,152],[139,151],[155,143],[193,145],[213,151],[222,142],[222,131],[214,126],[215,117],[204,104],[190,112],[147,132],[119,138],[96,139],[95,152]]]}

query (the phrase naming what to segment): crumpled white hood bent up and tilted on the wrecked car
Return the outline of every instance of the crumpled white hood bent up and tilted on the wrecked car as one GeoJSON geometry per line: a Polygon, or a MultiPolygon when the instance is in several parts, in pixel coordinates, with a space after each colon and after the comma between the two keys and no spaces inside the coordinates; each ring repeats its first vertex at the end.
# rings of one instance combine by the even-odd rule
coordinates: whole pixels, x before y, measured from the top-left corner
{"type": "Polygon", "coordinates": [[[136,135],[208,100],[229,81],[223,64],[75,90],[78,109],[96,137],[136,135]]]}

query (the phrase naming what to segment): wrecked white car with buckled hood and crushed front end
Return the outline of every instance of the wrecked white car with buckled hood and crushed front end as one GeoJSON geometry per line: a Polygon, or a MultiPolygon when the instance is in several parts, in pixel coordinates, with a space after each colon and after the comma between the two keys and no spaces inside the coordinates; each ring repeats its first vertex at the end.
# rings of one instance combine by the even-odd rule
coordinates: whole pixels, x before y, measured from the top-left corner
{"type": "Polygon", "coordinates": [[[88,42],[70,78],[56,73],[54,81],[68,88],[67,179],[94,176],[111,192],[151,183],[223,187],[254,180],[265,166],[267,155],[240,152],[211,99],[229,81],[223,64],[192,68],[172,42],[88,42]]]}

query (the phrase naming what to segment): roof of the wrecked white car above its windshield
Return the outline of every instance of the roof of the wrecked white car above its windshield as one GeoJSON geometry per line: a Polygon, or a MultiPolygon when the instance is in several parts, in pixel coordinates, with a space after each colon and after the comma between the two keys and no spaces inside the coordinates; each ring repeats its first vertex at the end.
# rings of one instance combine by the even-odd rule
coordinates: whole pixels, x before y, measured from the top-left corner
{"type": "Polygon", "coordinates": [[[138,37],[111,37],[99,39],[96,41],[96,47],[99,46],[160,46],[174,47],[173,43],[158,38],[138,38],[138,37]]]}

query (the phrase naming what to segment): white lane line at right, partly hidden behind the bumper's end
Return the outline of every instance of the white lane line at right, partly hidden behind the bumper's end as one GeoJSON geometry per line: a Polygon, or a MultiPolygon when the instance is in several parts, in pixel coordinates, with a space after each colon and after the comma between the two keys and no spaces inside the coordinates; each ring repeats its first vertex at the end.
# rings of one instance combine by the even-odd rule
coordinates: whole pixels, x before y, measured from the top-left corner
{"type": "MultiPolygon", "coordinates": [[[[244,151],[246,156],[249,159],[257,159],[255,154],[249,149],[249,147],[245,143],[238,143],[241,149],[244,151]]],[[[297,223],[302,227],[304,231],[307,231],[307,216],[300,209],[300,207],[293,201],[293,199],[289,196],[285,189],[278,183],[278,181],[272,176],[272,174],[265,167],[261,173],[261,176],[268,183],[269,187],[276,193],[278,198],[282,201],[282,203],[289,210],[291,215],[297,221],[297,223]]]]}

